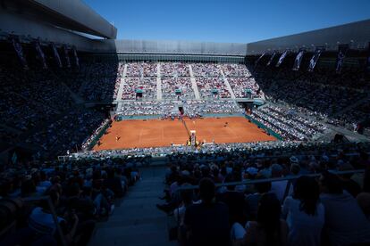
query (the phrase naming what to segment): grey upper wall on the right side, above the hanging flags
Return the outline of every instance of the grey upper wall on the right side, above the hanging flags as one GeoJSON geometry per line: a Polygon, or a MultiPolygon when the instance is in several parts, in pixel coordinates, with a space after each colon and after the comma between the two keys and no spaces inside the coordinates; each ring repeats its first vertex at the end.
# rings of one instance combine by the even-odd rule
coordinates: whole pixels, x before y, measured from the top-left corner
{"type": "Polygon", "coordinates": [[[327,29],[317,29],[295,35],[276,37],[248,44],[248,54],[269,50],[295,50],[324,45],[327,50],[336,50],[338,44],[350,44],[351,48],[365,48],[370,41],[370,20],[357,21],[327,29]]]}

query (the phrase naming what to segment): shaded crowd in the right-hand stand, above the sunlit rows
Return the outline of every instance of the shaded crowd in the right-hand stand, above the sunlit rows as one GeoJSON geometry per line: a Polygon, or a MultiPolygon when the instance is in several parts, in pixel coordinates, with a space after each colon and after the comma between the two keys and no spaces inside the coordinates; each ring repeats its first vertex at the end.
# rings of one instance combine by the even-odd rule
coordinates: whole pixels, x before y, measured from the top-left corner
{"type": "Polygon", "coordinates": [[[337,74],[320,67],[314,72],[297,72],[260,66],[253,76],[270,100],[287,102],[328,123],[353,129],[368,119],[370,79],[364,70],[345,68],[337,74]],[[358,101],[364,102],[350,108],[358,101]]]}

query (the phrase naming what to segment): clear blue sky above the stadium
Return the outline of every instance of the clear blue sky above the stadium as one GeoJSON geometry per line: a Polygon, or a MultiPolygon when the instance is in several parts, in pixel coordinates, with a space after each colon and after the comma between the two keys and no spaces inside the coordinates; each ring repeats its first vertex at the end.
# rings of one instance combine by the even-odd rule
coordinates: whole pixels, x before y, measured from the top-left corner
{"type": "Polygon", "coordinates": [[[370,0],[83,0],[119,39],[249,43],[370,18],[370,0]]]}

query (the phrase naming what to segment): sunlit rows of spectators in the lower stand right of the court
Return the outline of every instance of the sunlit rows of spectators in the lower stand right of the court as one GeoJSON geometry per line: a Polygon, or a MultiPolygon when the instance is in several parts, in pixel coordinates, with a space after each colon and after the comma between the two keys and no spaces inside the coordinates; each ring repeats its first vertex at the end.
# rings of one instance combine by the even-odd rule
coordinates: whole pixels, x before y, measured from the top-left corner
{"type": "Polygon", "coordinates": [[[295,111],[289,111],[272,104],[254,110],[251,117],[266,127],[271,127],[284,139],[309,140],[315,135],[324,133],[326,129],[323,123],[304,118],[295,111]]]}

